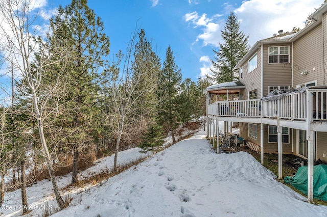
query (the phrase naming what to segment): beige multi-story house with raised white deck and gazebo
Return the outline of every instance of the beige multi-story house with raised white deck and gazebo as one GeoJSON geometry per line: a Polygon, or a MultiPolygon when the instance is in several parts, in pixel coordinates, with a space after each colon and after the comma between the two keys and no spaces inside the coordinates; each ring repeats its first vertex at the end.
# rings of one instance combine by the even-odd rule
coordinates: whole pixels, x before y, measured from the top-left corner
{"type": "Polygon", "coordinates": [[[237,64],[237,82],[213,85],[204,93],[207,123],[225,123],[223,130],[218,125],[208,130],[208,137],[239,122],[240,136],[260,146],[262,164],[265,153],[278,153],[279,179],[283,154],[307,159],[312,202],[314,160],[327,163],[327,4],[309,19],[297,33],[279,31],[256,42],[237,64]],[[213,102],[221,95],[225,100],[213,102]]]}

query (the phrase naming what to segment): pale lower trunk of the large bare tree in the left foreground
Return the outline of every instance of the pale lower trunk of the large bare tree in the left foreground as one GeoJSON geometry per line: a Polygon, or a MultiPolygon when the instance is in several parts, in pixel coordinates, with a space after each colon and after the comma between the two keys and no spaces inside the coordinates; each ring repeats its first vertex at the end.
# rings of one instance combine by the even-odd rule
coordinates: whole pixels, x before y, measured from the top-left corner
{"type": "MultiPolygon", "coordinates": [[[[33,88],[31,88],[31,89],[33,91],[33,88]]],[[[63,209],[66,207],[66,204],[62,200],[61,195],[59,193],[58,184],[57,184],[57,180],[56,180],[56,176],[55,176],[55,171],[53,170],[53,167],[51,164],[51,157],[50,157],[49,149],[48,149],[48,146],[46,146],[46,141],[45,141],[44,132],[43,132],[43,122],[42,122],[42,117],[41,117],[40,110],[38,107],[38,101],[37,101],[37,97],[35,94],[35,90],[33,91],[33,103],[34,103],[35,115],[36,115],[36,119],[37,119],[37,125],[38,125],[40,140],[41,140],[41,146],[42,146],[44,158],[46,161],[46,167],[48,168],[48,171],[49,171],[49,175],[50,175],[52,186],[53,186],[53,191],[55,193],[58,206],[61,209],[63,209]]]]}

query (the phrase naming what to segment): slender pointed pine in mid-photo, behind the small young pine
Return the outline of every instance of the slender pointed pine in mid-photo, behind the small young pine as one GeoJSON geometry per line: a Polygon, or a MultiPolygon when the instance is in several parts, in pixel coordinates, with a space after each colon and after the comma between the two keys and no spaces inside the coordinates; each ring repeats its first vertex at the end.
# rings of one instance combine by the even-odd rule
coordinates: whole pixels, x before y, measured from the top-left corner
{"type": "Polygon", "coordinates": [[[160,123],[168,125],[168,131],[171,130],[172,139],[175,143],[174,130],[179,124],[178,106],[179,94],[178,89],[182,81],[181,69],[175,63],[175,57],[171,46],[166,50],[166,59],[163,64],[160,76],[160,98],[164,99],[159,112],[160,123]]]}

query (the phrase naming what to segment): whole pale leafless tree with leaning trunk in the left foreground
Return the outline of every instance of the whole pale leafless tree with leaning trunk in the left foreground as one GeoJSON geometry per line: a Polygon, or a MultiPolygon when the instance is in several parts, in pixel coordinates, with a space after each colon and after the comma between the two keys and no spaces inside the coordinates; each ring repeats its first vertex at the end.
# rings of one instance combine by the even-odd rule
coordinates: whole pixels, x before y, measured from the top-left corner
{"type": "MultiPolygon", "coordinates": [[[[50,155],[48,145],[46,144],[44,133],[44,120],[48,113],[45,113],[45,107],[49,100],[52,99],[53,93],[59,87],[59,80],[61,78],[58,74],[52,89],[48,89],[47,92],[39,93],[38,89],[42,85],[42,75],[44,70],[50,65],[56,64],[61,61],[58,56],[64,55],[64,50],[60,50],[62,47],[58,46],[56,51],[56,59],[53,60],[49,53],[49,47],[38,46],[36,43],[36,35],[38,34],[37,28],[33,29],[35,21],[37,19],[37,13],[30,13],[35,10],[35,5],[32,5],[31,0],[4,0],[0,3],[0,15],[3,16],[1,23],[0,50],[2,51],[3,58],[19,72],[22,79],[26,80],[26,83],[30,89],[30,98],[33,106],[33,115],[37,120],[37,128],[39,132],[39,139],[43,150],[44,159],[48,168],[54,193],[57,203],[60,208],[66,206],[65,202],[61,198],[59,193],[54,169],[52,166],[52,157],[50,155]],[[4,41],[5,39],[5,41],[4,41]],[[35,52],[38,53],[38,63],[34,64],[33,61],[35,52]]],[[[46,34],[48,37],[50,34],[46,34]]],[[[39,42],[43,41],[43,45],[47,44],[48,38],[43,38],[39,42]]],[[[53,53],[52,53],[53,54],[53,53]]],[[[56,107],[54,108],[56,111],[56,107]]]]}

